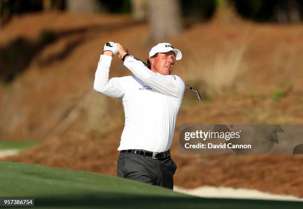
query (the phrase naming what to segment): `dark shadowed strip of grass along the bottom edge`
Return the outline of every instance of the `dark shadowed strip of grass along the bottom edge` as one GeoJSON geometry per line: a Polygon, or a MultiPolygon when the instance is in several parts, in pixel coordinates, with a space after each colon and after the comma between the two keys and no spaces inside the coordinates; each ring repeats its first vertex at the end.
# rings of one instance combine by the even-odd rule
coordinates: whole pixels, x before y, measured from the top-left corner
{"type": "Polygon", "coordinates": [[[119,193],[83,194],[83,196],[38,197],[36,207],[71,207],[71,208],[205,208],[205,209],[299,209],[301,202],[210,199],[198,197],[169,197],[125,195],[119,193]]]}

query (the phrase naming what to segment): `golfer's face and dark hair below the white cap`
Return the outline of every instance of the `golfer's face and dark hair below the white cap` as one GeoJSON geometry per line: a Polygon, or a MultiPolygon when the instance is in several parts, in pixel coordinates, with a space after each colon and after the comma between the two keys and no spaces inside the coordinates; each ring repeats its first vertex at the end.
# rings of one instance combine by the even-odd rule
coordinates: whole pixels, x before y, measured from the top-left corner
{"type": "Polygon", "coordinates": [[[162,75],[170,75],[175,63],[175,53],[172,51],[158,53],[156,57],[150,57],[152,72],[162,75]]]}

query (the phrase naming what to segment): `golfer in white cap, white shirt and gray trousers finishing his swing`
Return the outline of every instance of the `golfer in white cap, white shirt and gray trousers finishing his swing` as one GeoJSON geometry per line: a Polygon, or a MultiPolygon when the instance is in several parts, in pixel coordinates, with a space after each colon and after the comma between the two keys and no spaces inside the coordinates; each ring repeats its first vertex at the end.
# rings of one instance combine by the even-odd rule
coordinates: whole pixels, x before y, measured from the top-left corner
{"type": "Polygon", "coordinates": [[[104,45],[95,75],[94,90],[123,102],[125,125],[121,136],[117,174],[173,189],[177,169],[170,157],[176,118],[185,84],[171,75],[182,53],[170,43],[159,43],[149,53],[148,67],[119,43],[104,45]],[[119,54],[132,76],[109,77],[112,56],[119,54]]]}

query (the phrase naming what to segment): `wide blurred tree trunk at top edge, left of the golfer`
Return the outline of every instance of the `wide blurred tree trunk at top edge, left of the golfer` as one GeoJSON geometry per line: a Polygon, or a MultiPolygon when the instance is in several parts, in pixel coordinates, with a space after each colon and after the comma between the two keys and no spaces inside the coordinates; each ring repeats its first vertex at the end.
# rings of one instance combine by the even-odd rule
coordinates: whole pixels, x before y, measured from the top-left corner
{"type": "Polygon", "coordinates": [[[98,0],[66,0],[66,9],[73,13],[98,13],[100,12],[98,0]]]}

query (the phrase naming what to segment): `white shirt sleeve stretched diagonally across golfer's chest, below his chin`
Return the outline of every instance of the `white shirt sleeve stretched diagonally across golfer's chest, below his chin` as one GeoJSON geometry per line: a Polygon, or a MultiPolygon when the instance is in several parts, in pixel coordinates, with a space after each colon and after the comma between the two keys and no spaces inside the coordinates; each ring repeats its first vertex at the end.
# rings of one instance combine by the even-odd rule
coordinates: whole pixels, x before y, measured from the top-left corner
{"type": "Polygon", "coordinates": [[[129,56],[124,61],[127,67],[137,78],[153,87],[158,92],[178,99],[183,98],[185,84],[179,76],[161,75],[152,72],[141,61],[129,56]]]}

